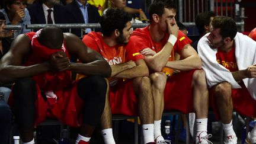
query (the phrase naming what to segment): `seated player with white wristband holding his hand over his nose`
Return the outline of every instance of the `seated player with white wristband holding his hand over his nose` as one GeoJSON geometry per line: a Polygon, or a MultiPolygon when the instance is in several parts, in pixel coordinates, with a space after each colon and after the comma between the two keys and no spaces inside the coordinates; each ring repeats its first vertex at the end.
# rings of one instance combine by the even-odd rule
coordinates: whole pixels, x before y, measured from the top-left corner
{"type": "Polygon", "coordinates": [[[178,31],[175,2],[155,0],[149,7],[149,15],[151,24],[145,28],[136,28],[130,42],[139,47],[151,70],[149,78],[155,102],[156,141],[163,139],[160,125],[165,109],[184,113],[194,111],[196,143],[210,143],[210,135],[207,135],[209,95],[206,76],[201,70],[200,57],[190,45],[191,40],[178,31]],[[174,60],[175,52],[180,54],[180,60],[174,60]],[[172,69],[181,72],[172,75],[172,69]]]}

